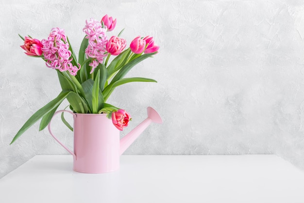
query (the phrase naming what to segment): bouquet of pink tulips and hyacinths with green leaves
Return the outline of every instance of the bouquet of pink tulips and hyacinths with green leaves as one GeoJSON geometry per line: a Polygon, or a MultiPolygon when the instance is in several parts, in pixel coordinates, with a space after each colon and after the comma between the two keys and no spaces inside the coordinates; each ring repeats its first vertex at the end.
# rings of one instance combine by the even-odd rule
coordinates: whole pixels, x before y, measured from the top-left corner
{"type": "MultiPolygon", "coordinates": [[[[101,21],[93,18],[86,20],[83,28],[85,37],[80,46],[78,60],[63,29],[52,28],[49,37],[41,41],[19,35],[24,40],[21,48],[26,55],[42,58],[47,67],[57,71],[62,92],[26,121],[11,144],[41,118],[39,130],[46,128],[65,99],[69,102],[69,108],[76,113],[106,113],[117,129],[122,130],[128,126],[130,114],[106,101],[119,85],[129,82],[156,82],[150,78],[124,76],[136,64],[158,53],[159,46],[155,44],[153,37],[138,36],[125,49],[127,42],[120,38],[123,30],[118,36],[109,39],[106,35],[115,27],[116,19],[108,15],[101,21]],[[112,55],[114,57],[110,60],[112,55]]],[[[61,118],[72,130],[63,114],[61,118]]]]}

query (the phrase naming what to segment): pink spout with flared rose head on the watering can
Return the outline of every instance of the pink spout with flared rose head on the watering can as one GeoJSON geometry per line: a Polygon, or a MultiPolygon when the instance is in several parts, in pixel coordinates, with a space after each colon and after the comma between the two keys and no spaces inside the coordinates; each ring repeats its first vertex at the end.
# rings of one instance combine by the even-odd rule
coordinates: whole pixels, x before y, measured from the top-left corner
{"type": "Polygon", "coordinates": [[[160,115],[152,108],[147,108],[148,118],[141,122],[120,140],[120,155],[136,140],[136,138],[153,122],[163,123],[160,115]]]}

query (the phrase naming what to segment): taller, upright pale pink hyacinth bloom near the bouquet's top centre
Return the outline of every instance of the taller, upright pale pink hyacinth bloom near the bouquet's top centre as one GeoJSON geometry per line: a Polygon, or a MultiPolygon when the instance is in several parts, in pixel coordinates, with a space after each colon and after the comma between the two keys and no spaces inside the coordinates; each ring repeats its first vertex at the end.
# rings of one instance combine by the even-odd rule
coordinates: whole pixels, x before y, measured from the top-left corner
{"type": "Polygon", "coordinates": [[[85,20],[85,27],[83,29],[86,34],[85,38],[88,39],[88,46],[85,49],[86,58],[95,58],[97,61],[90,63],[92,70],[90,73],[93,73],[94,69],[98,66],[99,63],[103,63],[103,59],[107,54],[105,46],[108,42],[107,36],[105,34],[106,29],[102,28],[102,25],[99,21],[90,18],[90,20],[85,20]]]}

